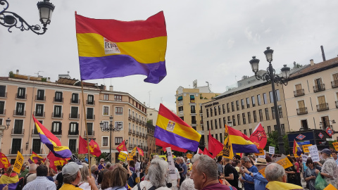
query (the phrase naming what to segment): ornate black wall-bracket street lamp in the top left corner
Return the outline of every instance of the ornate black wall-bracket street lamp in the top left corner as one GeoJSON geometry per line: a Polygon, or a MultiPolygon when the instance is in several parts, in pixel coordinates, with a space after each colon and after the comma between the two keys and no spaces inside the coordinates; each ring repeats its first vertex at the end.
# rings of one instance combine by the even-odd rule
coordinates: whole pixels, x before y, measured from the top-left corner
{"type": "Polygon", "coordinates": [[[37,8],[39,9],[40,22],[42,23],[43,32],[37,32],[41,27],[39,25],[29,25],[20,15],[6,11],[9,4],[7,0],[0,0],[0,6],[5,6],[3,11],[0,11],[0,25],[8,27],[8,32],[12,32],[11,28],[16,27],[21,31],[31,30],[35,34],[44,34],[47,30],[47,25],[51,23],[51,14],[54,11],[55,6],[49,3],[49,0],[37,2],[37,8]]]}

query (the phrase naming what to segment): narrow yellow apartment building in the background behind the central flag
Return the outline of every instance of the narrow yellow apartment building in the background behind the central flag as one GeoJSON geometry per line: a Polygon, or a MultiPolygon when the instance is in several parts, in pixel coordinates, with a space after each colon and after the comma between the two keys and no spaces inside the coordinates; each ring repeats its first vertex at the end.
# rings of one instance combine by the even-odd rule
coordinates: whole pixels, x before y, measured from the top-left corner
{"type": "Polygon", "coordinates": [[[193,83],[193,88],[178,87],[175,99],[176,99],[176,113],[177,115],[192,126],[199,134],[202,135],[199,147],[204,147],[205,136],[205,122],[204,115],[202,113],[202,104],[220,93],[213,93],[210,90],[209,85],[204,87],[197,87],[197,81],[193,83]]]}

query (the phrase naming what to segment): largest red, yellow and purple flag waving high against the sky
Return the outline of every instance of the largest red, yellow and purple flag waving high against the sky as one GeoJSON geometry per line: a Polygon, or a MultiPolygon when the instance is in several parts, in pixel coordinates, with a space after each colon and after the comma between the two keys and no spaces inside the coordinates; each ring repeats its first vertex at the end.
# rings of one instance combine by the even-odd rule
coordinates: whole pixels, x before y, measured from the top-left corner
{"type": "Polygon", "coordinates": [[[167,75],[163,11],[146,20],[86,18],[75,12],[81,80],[146,75],[157,84],[167,75]]]}

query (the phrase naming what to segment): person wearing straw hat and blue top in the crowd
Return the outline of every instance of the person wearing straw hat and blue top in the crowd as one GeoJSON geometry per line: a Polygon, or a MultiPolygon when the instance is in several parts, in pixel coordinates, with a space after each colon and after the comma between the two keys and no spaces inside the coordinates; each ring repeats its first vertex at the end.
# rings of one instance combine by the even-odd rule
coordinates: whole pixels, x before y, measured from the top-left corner
{"type": "MultiPolygon", "coordinates": [[[[258,158],[257,162],[255,163],[258,171],[262,170],[266,167],[267,163],[264,158],[258,158]]],[[[244,167],[244,175],[247,175],[247,178],[249,181],[253,181],[255,185],[255,190],[265,190],[266,184],[268,184],[268,180],[263,177],[263,175],[260,172],[250,172],[246,167],[244,167]],[[253,180],[250,180],[253,179],[253,180]]]]}

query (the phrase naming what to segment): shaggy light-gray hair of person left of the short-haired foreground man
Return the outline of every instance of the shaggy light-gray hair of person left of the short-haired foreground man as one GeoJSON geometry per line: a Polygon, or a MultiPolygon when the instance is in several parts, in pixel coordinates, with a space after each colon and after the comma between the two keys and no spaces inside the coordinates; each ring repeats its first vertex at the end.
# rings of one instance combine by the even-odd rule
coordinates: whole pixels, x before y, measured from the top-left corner
{"type": "Polygon", "coordinates": [[[165,186],[165,178],[168,170],[168,163],[165,160],[159,158],[151,160],[151,165],[148,169],[147,179],[151,182],[156,188],[160,186],[165,186]]]}

